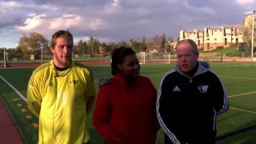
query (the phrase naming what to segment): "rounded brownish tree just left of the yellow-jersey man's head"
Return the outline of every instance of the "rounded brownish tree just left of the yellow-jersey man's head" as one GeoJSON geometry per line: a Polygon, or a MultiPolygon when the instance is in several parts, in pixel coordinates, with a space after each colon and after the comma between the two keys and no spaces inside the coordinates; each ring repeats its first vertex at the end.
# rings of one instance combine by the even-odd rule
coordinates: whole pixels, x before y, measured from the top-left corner
{"type": "Polygon", "coordinates": [[[42,34],[34,32],[28,36],[23,35],[19,39],[18,50],[22,51],[25,58],[29,58],[30,54],[34,54],[35,58],[40,58],[41,49],[45,49],[47,44],[48,41],[42,34]]]}

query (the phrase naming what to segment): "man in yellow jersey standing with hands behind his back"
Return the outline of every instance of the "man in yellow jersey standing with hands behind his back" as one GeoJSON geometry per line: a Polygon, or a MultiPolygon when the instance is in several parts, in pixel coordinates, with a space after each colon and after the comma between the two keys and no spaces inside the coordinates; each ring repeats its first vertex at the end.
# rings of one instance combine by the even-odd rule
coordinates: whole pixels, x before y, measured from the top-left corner
{"type": "Polygon", "coordinates": [[[73,36],[59,30],[51,38],[53,60],[30,77],[27,103],[39,118],[38,143],[90,143],[87,116],[95,98],[88,67],[72,61],[73,36]]]}

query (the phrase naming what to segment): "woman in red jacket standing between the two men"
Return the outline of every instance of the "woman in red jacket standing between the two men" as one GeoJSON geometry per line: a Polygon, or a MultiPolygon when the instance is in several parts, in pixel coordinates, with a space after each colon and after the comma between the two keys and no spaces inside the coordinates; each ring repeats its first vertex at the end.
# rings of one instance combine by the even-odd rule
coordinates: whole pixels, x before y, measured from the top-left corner
{"type": "Polygon", "coordinates": [[[106,144],[154,144],[158,130],[157,91],[139,75],[138,58],[131,48],[112,54],[110,83],[101,86],[93,123],[106,144]]]}

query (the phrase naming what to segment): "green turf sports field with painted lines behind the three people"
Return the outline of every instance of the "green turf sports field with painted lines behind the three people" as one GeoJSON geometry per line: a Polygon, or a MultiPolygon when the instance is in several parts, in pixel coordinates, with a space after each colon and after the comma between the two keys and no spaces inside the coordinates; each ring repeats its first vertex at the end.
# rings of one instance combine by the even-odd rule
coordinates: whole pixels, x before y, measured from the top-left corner
{"type": "MultiPolygon", "coordinates": [[[[160,79],[174,64],[142,65],[141,74],[149,77],[158,88],[160,79]]],[[[211,69],[220,76],[229,95],[230,110],[218,116],[217,143],[256,143],[256,63],[210,63],[211,69]]],[[[110,66],[90,66],[94,72],[95,85],[98,78],[110,76],[110,66]]],[[[0,75],[26,96],[26,86],[34,68],[0,69],[0,75]]],[[[36,143],[38,139],[37,118],[30,118],[26,102],[22,100],[0,78],[0,98],[4,100],[14,122],[26,143],[36,143]]],[[[90,125],[92,143],[102,143],[102,138],[90,125]]],[[[162,143],[162,131],[156,143],[162,143]]]]}

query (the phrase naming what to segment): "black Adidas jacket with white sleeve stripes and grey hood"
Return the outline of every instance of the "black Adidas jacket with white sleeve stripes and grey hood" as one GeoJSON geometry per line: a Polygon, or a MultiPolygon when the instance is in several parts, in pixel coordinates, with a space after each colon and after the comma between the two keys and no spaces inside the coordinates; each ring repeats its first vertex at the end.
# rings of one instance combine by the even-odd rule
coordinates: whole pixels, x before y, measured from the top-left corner
{"type": "Polygon", "coordinates": [[[157,114],[166,143],[214,143],[216,116],[227,109],[222,82],[201,62],[192,77],[183,74],[178,64],[162,77],[157,114]]]}

